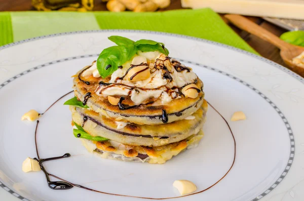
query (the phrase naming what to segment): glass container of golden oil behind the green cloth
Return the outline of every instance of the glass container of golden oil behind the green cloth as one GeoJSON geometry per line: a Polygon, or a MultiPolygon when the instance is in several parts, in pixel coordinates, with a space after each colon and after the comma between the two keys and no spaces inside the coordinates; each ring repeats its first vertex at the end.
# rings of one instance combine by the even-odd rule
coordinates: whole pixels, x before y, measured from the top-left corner
{"type": "Polygon", "coordinates": [[[38,11],[91,11],[94,0],[32,0],[32,6],[38,11]]]}

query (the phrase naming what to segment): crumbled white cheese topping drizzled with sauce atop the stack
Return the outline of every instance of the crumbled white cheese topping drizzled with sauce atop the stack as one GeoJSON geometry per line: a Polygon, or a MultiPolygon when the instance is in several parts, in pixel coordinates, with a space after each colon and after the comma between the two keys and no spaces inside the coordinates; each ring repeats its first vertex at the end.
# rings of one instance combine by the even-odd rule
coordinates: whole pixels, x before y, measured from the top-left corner
{"type": "MultiPolygon", "coordinates": [[[[92,69],[89,68],[86,70],[84,75],[93,73],[93,76],[95,76],[95,66],[96,63],[93,64],[91,67],[92,69]]],[[[148,98],[154,97],[160,98],[159,100],[161,103],[165,105],[173,99],[181,98],[178,95],[178,89],[176,88],[181,88],[187,84],[195,83],[196,80],[197,75],[192,70],[181,70],[178,72],[172,65],[171,60],[169,60],[166,55],[158,51],[138,51],[137,56],[135,55],[130,61],[123,64],[123,68],[119,68],[112,73],[109,83],[113,83],[113,85],[101,86],[96,91],[96,94],[99,96],[131,96],[131,100],[135,105],[139,105],[148,98]],[[133,82],[132,80],[130,81],[130,75],[124,75],[129,72],[127,70],[132,67],[132,65],[145,66],[143,68],[149,67],[151,72],[149,77],[137,82],[133,82]],[[168,70],[162,68],[162,65],[166,66],[168,70]],[[168,74],[172,77],[172,80],[168,78],[168,74]],[[171,90],[173,87],[175,89],[171,90]]]]}

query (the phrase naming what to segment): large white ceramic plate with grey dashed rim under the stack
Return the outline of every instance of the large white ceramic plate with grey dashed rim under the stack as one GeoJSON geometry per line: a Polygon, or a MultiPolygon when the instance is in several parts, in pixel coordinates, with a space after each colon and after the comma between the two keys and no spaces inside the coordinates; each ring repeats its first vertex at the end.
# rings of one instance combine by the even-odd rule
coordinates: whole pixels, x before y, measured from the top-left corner
{"type": "Polygon", "coordinates": [[[103,30],[49,35],[0,47],[0,72],[3,197],[11,193],[12,200],[35,201],[304,199],[304,81],[267,59],[183,35],[103,30]],[[40,157],[69,152],[69,158],[46,162],[48,172],[110,194],[78,187],[52,190],[43,172],[21,170],[26,157],[37,155],[36,123],[22,122],[20,118],[29,109],[44,112],[71,91],[70,76],[112,45],[107,40],[110,35],[165,43],[171,57],[192,67],[202,79],[207,101],[227,120],[233,135],[210,106],[199,147],[164,165],[103,159],[88,153],[80,140],[73,137],[70,111],[63,106],[72,96],[68,94],[40,118],[40,157]],[[231,122],[235,111],[243,111],[247,120],[231,122]],[[172,187],[177,179],[193,181],[199,193],[179,197],[172,187]]]}

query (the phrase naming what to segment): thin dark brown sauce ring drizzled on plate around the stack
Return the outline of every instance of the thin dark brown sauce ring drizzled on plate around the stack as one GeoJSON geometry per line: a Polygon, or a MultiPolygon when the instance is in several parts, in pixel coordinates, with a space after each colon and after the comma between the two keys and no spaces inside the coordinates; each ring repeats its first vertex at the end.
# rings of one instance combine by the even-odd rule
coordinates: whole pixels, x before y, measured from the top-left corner
{"type": "MultiPolygon", "coordinates": [[[[66,95],[72,93],[73,91],[63,95],[62,97],[60,97],[57,101],[55,101],[43,114],[45,114],[55,103],[57,103],[60,99],[62,99],[63,97],[65,97],[66,95]]],[[[207,101],[208,102],[208,101],[207,101]]],[[[183,195],[183,196],[177,196],[177,197],[185,197],[185,196],[190,196],[190,195],[194,195],[194,194],[198,194],[198,193],[201,193],[201,192],[204,192],[210,188],[212,188],[213,186],[215,186],[218,182],[220,182],[232,169],[232,167],[234,166],[235,164],[235,159],[236,159],[236,140],[235,140],[235,137],[233,135],[233,132],[228,124],[228,122],[226,121],[226,119],[208,102],[208,104],[222,117],[222,119],[224,120],[224,122],[226,123],[227,127],[229,128],[230,132],[231,132],[231,135],[233,137],[233,140],[234,140],[234,159],[233,159],[233,162],[232,162],[232,165],[230,167],[230,169],[218,180],[216,181],[214,184],[212,184],[211,186],[201,190],[201,191],[198,191],[198,192],[195,192],[195,193],[192,193],[192,194],[187,194],[187,195],[183,195]]],[[[143,199],[172,199],[172,198],[177,198],[177,197],[164,197],[164,198],[153,198],[153,197],[140,197],[140,196],[132,196],[132,195],[122,195],[122,194],[115,194],[115,193],[108,193],[108,192],[103,192],[103,191],[99,191],[99,190],[95,190],[95,189],[92,189],[92,188],[88,188],[88,187],[85,187],[85,186],[82,186],[82,185],[79,185],[79,184],[75,184],[75,183],[72,183],[72,182],[69,182],[69,181],[66,181],[60,177],[57,177],[56,175],[53,175],[53,174],[50,174],[48,173],[44,166],[42,165],[43,162],[47,161],[47,160],[55,160],[55,159],[60,159],[60,158],[64,158],[64,157],[69,157],[70,154],[69,153],[66,153],[62,156],[59,156],[59,157],[52,157],[52,158],[40,158],[39,156],[39,151],[38,151],[38,146],[37,146],[37,128],[38,128],[38,124],[39,124],[39,120],[37,120],[37,124],[36,124],[36,129],[35,129],[35,147],[36,147],[36,154],[37,154],[37,158],[34,158],[35,160],[37,160],[41,166],[41,169],[42,171],[45,173],[46,175],[46,179],[47,179],[47,182],[48,182],[48,186],[52,189],[61,189],[61,190],[67,190],[67,189],[70,189],[72,188],[73,186],[75,187],[79,187],[79,188],[83,188],[83,189],[86,189],[86,190],[90,190],[90,191],[94,191],[94,192],[99,192],[99,193],[103,193],[103,194],[108,194],[108,195],[117,195],[117,196],[124,196],[124,197],[136,197],[136,198],[143,198],[143,199]],[[55,181],[55,182],[52,182],[50,180],[50,176],[56,178],[56,179],[59,179],[61,181],[55,181]]]]}

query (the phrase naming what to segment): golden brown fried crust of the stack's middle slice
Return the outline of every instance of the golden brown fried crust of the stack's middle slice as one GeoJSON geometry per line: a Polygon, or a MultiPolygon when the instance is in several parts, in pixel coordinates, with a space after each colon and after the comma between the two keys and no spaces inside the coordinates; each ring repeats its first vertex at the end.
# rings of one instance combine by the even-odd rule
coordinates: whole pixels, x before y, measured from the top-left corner
{"type": "Polygon", "coordinates": [[[160,143],[162,144],[168,144],[167,138],[186,135],[188,133],[190,134],[199,125],[201,125],[205,119],[204,115],[206,115],[208,106],[205,105],[205,107],[202,107],[198,109],[195,113],[193,113],[192,115],[195,117],[195,119],[192,120],[182,119],[176,122],[162,124],[162,125],[137,125],[131,123],[131,124],[127,124],[122,129],[117,129],[117,124],[115,120],[112,120],[105,116],[100,116],[97,112],[93,110],[77,108],[73,106],[71,106],[70,108],[72,111],[72,118],[74,122],[76,122],[79,125],[84,125],[84,129],[87,132],[91,131],[91,127],[92,127],[91,122],[102,127],[100,128],[102,129],[102,132],[98,134],[95,133],[95,135],[107,137],[107,136],[103,136],[103,133],[109,134],[109,132],[114,132],[120,134],[122,137],[123,136],[126,137],[138,136],[144,138],[149,137],[149,138],[153,138],[154,141],[160,141],[160,143]],[[88,119],[86,120],[85,124],[83,124],[84,116],[86,116],[88,119]]]}

